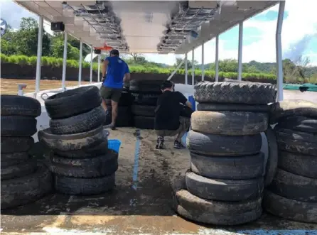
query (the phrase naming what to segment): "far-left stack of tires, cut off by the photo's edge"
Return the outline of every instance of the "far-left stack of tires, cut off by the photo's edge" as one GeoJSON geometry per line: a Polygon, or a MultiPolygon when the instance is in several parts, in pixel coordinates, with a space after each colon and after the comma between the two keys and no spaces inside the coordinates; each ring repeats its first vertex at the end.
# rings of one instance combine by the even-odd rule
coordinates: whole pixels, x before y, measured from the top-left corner
{"type": "Polygon", "coordinates": [[[28,155],[41,104],[30,97],[1,95],[1,209],[34,202],[52,190],[52,175],[28,155]]]}

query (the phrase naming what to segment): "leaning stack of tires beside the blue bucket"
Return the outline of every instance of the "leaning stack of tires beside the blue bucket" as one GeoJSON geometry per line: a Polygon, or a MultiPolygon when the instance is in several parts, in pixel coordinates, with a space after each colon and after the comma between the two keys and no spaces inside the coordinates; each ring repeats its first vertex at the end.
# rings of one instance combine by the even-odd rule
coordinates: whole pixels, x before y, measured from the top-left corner
{"type": "Polygon", "coordinates": [[[94,195],[114,187],[118,153],[108,149],[106,118],[95,86],[70,89],[45,100],[50,128],[38,139],[52,150],[54,186],[68,195],[94,195]]]}

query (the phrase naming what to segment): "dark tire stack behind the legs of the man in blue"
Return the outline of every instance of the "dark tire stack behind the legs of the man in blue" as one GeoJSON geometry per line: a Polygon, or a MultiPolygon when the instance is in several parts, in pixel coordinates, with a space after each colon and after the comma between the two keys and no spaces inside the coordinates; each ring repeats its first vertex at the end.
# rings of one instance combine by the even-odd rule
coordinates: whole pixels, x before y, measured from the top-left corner
{"type": "MultiPolygon", "coordinates": [[[[117,120],[116,126],[118,127],[126,127],[126,126],[134,126],[133,124],[133,115],[131,112],[131,104],[134,101],[134,97],[131,96],[129,89],[124,89],[118,104],[118,112],[117,112],[117,120]]],[[[111,124],[112,122],[112,105],[111,99],[106,99],[108,114],[106,116],[106,121],[104,125],[111,124]]]]}

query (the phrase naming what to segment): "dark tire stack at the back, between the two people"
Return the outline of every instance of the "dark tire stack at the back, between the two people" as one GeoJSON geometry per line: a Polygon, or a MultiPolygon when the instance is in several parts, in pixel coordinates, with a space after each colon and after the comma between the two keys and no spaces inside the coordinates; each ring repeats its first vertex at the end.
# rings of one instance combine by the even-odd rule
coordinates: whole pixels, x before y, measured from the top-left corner
{"type": "Polygon", "coordinates": [[[131,80],[130,92],[134,97],[131,106],[134,126],[139,129],[154,129],[155,108],[161,92],[162,80],[131,80]]]}

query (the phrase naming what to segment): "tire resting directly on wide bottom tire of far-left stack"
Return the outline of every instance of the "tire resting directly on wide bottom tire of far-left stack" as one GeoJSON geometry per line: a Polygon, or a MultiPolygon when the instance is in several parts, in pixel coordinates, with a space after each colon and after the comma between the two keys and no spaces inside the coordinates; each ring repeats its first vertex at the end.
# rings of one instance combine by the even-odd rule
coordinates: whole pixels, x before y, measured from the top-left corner
{"type": "Polygon", "coordinates": [[[1,165],[1,180],[11,180],[17,177],[29,175],[36,170],[36,162],[28,160],[16,165],[2,166],[1,165]]]}

